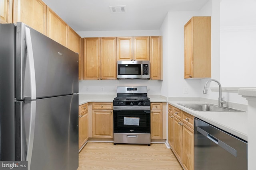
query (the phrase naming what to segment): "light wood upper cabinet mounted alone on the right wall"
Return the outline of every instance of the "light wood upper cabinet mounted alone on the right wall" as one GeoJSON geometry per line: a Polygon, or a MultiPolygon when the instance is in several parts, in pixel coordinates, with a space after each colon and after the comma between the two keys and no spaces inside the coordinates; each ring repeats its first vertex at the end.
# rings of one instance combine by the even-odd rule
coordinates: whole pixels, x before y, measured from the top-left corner
{"type": "Polygon", "coordinates": [[[211,17],[192,17],[184,25],[184,78],[211,77],[211,17]]]}

